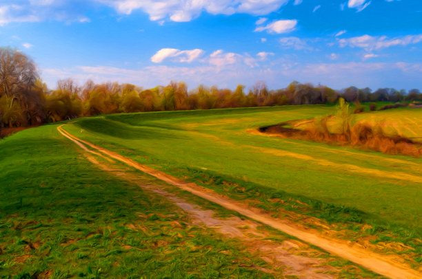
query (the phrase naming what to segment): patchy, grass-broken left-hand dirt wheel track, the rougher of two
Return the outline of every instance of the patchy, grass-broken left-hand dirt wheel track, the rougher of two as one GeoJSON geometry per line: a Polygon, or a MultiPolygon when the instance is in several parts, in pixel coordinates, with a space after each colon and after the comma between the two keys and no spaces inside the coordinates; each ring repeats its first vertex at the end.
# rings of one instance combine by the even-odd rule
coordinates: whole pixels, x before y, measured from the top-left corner
{"type": "MultiPolygon", "coordinates": [[[[165,199],[168,199],[183,211],[188,212],[192,225],[205,225],[227,238],[237,238],[250,254],[259,256],[272,266],[272,269],[263,269],[254,265],[250,266],[250,268],[259,269],[270,274],[278,274],[281,271],[283,276],[290,275],[315,279],[337,278],[337,275],[341,272],[341,270],[330,266],[329,262],[332,258],[328,258],[325,253],[313,249],[309,245],[301,243],[301,241],[292,239],[272,240],[270,239],[272,234],[267,230],[263,230],[258,222],[241,219],[234,215],[225,216],[224,218],[217,217],[217,212],[214,212],[214,210],[203,209],[195,203],[188,202],[166,191],[164,186],[145,180],[145,177],[139,175],[139,172],[138,174],[128,172],[122,169],[121,166],[101,163],[88,153],[86,153],[86,157],[93,164],[102,170],[111,172],[119,179],[129,181],[144,190],[165,197],[165,199]]],[[[179,224],[175,223],[174,225],[177,226],[179,224]]],[[[142,230],[140,224],[127,224],[127,226],[133,230],[142,230]]]]}

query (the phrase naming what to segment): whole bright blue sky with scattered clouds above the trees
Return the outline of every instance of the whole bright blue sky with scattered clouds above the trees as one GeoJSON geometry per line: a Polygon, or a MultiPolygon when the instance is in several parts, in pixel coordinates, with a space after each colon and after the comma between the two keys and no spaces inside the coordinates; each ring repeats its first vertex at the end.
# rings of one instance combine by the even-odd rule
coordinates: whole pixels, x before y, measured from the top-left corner
{"type": "Polygon", "coordinates": [[[0,0],[0,46],[31,56],[50,88],[422,89],[422,1],[0,0]]]}

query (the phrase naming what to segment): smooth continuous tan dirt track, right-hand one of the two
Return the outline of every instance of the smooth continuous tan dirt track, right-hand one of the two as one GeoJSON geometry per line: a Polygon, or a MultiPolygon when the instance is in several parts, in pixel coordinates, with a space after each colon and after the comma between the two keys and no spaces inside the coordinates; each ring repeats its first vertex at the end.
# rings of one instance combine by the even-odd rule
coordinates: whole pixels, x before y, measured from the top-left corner
{"type": "MultiPolygon", "coordinates": [[[[80,147],[83,146],[83,144],[86,144],[87,146],[90,146],[90,148],[93,148],[113,159],[121,161],[128,166],[132,166],[137,170],[148,173],[149,175],[157,177],[158,179],[161,179],[173,186],[177,186],[182,190],[191,192],[198,197],[212,201],[213,203],[217,203],[223,206],[223,208],[238,212],[239,214],[242,214],[243,216],[246,216],[254,221],[259,221],[260,223],[274,227],[281,232],[295,236],[301,239],[301,241],[305,241],[306,243],[320,247],[321,249],[324,249],[325,251],[330,252],[336,256],[340,256],[341,258],[348,259],[353,263],[376,272],[377,274],[381,274],[389,278],[422,278],[422,273],[411,269],[404,263],[399,263],[399,261],[392,256],[376,254],[367,249],[352,246],[346,241],[328,238],[316,230],[301,227],[296,223],[287,220],[275,219],[269,214],[261,212],[261,210],[249,208],[245,203],[234,201],[228,197],[223,197],[213,190],[197,186],[195,183],[182,181],[181,179],[172,177],[171,175],[165,174],[159,170],[154,170],[153,168],[139,164],[132,159],[119,155],[118,153],[114,153],[110,150],[79,139],[78,137],[74,137],[74,135],[64,131],[62,126],[63,125],[58,126],[57,130],[68,139],[71,139],[72,142],[78,144],[80,147]]],[[[84,149],[86,150],[87,148],[84,146],[84,149]]]]}

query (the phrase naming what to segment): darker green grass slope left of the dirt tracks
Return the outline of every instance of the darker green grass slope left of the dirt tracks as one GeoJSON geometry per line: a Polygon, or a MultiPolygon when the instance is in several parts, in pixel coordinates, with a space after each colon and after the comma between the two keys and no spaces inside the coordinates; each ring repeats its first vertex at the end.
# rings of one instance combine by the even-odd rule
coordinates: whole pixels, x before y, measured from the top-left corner
{"type": "Polygon", "coordinates": [[[95,168],[56,127],[0,141],[0,278],[272,277],[238,241],[95,168]]]}

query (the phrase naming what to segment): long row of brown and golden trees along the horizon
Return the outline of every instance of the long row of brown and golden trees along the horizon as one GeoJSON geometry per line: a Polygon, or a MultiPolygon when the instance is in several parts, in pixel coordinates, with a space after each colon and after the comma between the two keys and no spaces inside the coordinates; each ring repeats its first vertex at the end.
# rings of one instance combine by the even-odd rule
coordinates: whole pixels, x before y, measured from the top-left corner
{"type": "Polygon", "coordinates": [[[422,100],[422,93],[419,89],[372,91],[368,87],[334,90],[296,81],[277,90],[269,90],[265,82],[257,82],[248,91],[244,85],[234,90],[204,85],[188,90],[185,82],[176,81],[143,89],[118,82],[95,84],[92,80],[80,86],[72,79],[59,80],[57,88],[51,90],[28,56],[17,49],[0,48],[0,129],[109,113],[334,104],[341,97],[348,102],[411,102],[422,100]]]}

